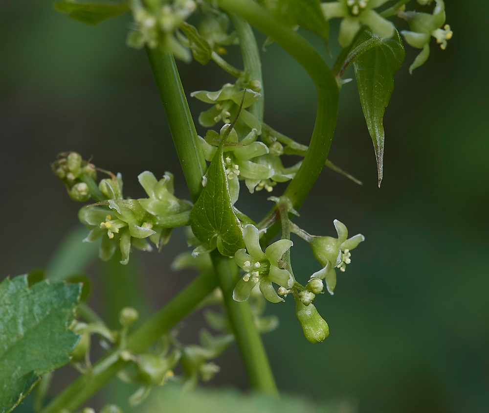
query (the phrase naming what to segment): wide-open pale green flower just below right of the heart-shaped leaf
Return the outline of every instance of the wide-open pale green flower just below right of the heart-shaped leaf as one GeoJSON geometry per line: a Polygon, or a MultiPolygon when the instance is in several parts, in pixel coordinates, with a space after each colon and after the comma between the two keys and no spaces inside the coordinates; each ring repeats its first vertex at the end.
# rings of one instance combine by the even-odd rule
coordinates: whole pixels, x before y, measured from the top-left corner
{"type": "Polygon", "coordinates": [[[238,250],[234,256],[236,263],[246,272],[233,291],[236,301],[245,301],[256,284],[270,302],[284,301],[273,288],[272,282],[284,288],[292,288],[294,278],[289,271],[279,268],[282,255],[293,245],[288,239],[281,239],[269,245],[265,252],[260,247],[258,229],[251,224],[243,228],[243,239],[246,250],[238,250]],[[246,253],[246,251],[248,253],[246,253]]]}

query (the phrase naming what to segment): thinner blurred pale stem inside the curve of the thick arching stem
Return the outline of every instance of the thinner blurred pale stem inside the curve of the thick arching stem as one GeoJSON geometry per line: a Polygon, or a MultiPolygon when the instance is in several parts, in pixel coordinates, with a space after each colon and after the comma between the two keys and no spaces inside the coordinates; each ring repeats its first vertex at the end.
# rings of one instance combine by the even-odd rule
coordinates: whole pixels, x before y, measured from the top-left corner
{"type": "Polygon", "coordinates": [[[248,81],[258,80],[262,85],[262,90],[260,91],[261,96],[250,108],[248,108],[248,111],[252,115],[255,115],[255,117],[261,122],[263,121],[263,114],[265,111],[265,96],[263,92],[260,51],[258,50],[258,45],[251,26],[233,13],[229,13],[229,17],[233,22],[234,28],[236,29],[236,34],[238,35],[238,39],[240,41],[244,72],[246,73],[248,81]]]}

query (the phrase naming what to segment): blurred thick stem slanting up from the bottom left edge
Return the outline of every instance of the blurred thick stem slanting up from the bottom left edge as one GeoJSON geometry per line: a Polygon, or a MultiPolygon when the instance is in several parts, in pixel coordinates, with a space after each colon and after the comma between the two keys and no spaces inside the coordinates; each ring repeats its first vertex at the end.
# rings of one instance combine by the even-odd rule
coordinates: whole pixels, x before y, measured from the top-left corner
{"type": "MultiPolygon", "coordinates": [[[[127,350],[134,353],[146,351],[159,336],[168,332],[189,314],[216,287],[217,280],[212,273],[199,275],[128,337],[127,350]]],[[[78,409],[126,364],[127,362],[119,357],[118,351],[112,351],[95,363],[89,373],[82,374],[71,383],[41,413],[78,409]]]]}

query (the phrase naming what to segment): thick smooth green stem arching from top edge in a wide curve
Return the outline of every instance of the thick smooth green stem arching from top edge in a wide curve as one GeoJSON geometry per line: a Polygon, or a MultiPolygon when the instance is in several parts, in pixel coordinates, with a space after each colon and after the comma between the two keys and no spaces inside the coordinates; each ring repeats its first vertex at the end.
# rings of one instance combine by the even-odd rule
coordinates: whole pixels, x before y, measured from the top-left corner
{"type": "MultiPolygon", "coordinates": [[[[218,3],[224,10],[236,13],[273,38],[306,69],[316,87],[318,106],[311,143],[304,162],[284,192],[292,206],[298,209],[319,176],[331,147],[338,115],[338,87],[335,78],[321,56],[301,35],[278,23],[269,11],[254,1],[219,0],[218,3]]],[[[268,236],[267,232],[267,238],[268,236]]]]}

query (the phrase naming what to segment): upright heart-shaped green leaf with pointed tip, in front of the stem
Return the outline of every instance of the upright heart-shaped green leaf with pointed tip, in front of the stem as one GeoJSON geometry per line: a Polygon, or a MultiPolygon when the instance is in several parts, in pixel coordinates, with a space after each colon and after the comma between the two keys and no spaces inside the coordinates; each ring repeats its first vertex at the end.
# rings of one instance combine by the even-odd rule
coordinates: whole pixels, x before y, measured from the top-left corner
{"type": "Polygon", "coordinates": [[[229,194],[223,151],[224,141],[207,169],[207,184],[190,211],[190,225],[200,242],[213,247],[217,243],[219,252],[231,257],[245,246],[229,194]]]}

